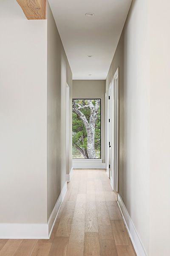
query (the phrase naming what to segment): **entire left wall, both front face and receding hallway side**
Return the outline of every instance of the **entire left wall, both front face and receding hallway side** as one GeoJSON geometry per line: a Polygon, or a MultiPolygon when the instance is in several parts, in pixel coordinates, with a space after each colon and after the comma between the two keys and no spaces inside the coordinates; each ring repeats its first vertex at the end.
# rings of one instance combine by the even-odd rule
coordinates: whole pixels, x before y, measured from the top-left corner
{"type": "Polygon", "coordinates": [[[27,20],[16,1],[12,8],[10,0],[0,2],[0,223],[47,223],[66,180],[66,161],[72,167],[72,73],[49,5],[47,15],[27,20]]]}

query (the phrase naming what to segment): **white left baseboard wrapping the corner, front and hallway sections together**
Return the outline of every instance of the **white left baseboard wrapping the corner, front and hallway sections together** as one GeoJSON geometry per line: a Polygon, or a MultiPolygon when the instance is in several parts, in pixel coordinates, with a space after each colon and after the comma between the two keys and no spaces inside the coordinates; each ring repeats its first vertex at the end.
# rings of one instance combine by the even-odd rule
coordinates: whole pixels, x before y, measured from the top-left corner
{"type": "Polygon", "coordinates": [[[57,203],[46,224],[18,224],[18,223],[0,223],[0,239],[49,239],[54,223],[57,218],[59,208],[67,191],[67,182],[65,182],[59,195],[57,203]]]}

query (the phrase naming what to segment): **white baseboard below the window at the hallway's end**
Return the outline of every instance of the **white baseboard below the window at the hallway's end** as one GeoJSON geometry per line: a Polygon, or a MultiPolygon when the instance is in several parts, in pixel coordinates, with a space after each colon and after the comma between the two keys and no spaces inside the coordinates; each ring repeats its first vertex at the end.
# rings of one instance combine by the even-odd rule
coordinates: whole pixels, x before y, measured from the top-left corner
{"type": "Polygon", "coordinates": [[[73,169],[106,169],[101,159],[73,159],[73,169]]]}

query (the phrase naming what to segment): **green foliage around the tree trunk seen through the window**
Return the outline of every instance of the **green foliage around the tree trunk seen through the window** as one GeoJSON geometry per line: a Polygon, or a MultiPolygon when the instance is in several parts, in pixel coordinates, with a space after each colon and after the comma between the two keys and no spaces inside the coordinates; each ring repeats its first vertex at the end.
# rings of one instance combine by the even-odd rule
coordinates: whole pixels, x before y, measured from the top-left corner
{"type": "MultiPolygon", "coordinates": [[[[88,105],[86,99],[73,99],[77,104],[81,107],[88,105]]],[[[95,99],[92,101],[95,105],[95,99]]],[[[91,110],[89,107],[79,109],[86,117],[88,122],[90,121],[91,110]]],[[[100,116],[100,106],[97,114],[96,124],[95,124],[95,151],[96,157],[100,158],[100,125],[101,125],[101,116],[100,116]]],[[[82,155],[77,151],[75,145],[79,146],[80,148],[87,150],[87,132],[85,129],[85,125],[83,124],[82,120],[79,116],[72,112],[72,141],[73,141],[73,158],[82,158],[82,155]]]]}

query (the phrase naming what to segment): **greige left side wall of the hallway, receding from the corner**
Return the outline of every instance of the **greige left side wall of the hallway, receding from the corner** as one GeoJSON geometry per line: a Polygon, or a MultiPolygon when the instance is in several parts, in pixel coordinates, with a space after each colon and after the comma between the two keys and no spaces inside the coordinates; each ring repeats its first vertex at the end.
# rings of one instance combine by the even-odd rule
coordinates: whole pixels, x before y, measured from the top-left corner
{"type": "MultiPolygon", "coordinates": [[[[47,221],[66,180],[66,161],[72,168],[72,149],[66,159],[66,83],[72,99],[72,73],[49,4],[47,5],[47,221]]],[[[71,113],[71,112],[70,112],[71,113]]],[[[71,116],[71,115],[70,115],[71,116]]],[[[71,145],[71,126],[70,145],[71,145]]]]}

